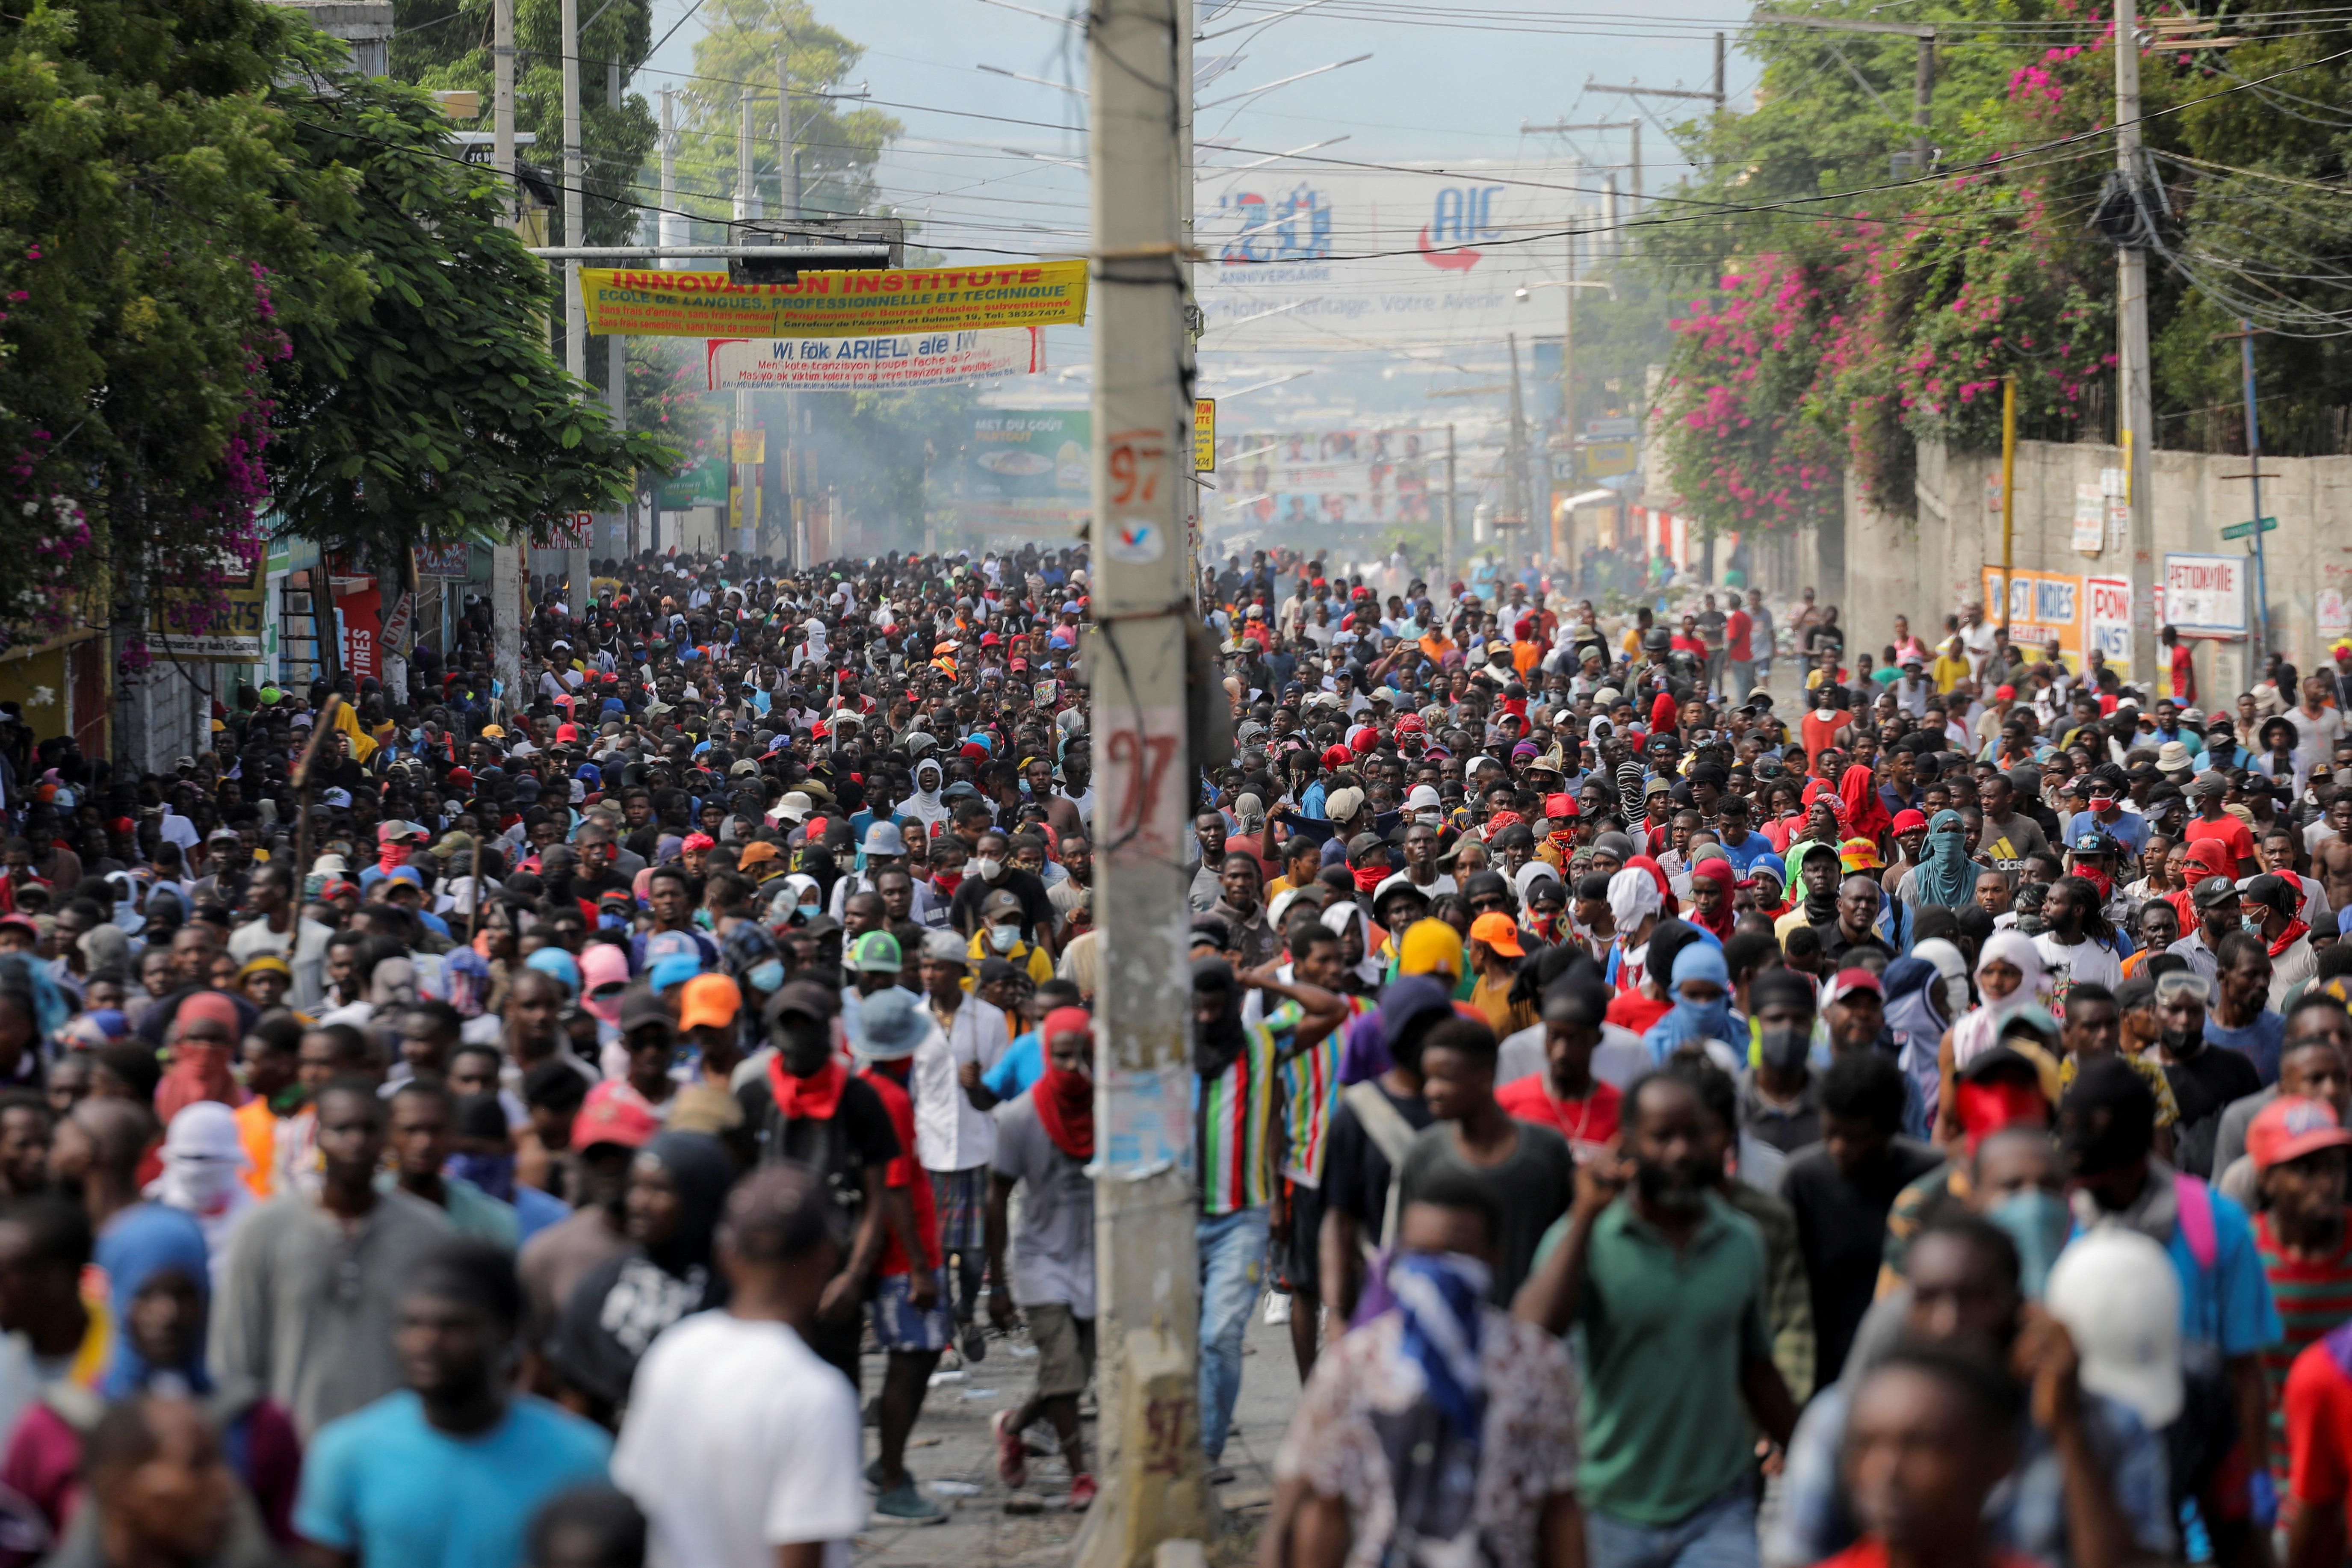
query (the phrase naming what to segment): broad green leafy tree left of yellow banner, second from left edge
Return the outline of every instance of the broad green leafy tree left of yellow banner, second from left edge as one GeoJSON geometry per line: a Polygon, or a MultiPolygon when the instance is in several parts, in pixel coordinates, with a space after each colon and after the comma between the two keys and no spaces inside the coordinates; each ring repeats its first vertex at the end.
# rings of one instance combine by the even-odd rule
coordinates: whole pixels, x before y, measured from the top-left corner
{"type": "Polygon", "coordinates": [[[292,531],[376,559],[510,527],[546,536],[677,461],[614,430],[555,364],[553,277],[433,99],[315,66],[278,96],[296,153],[285,195],[320,252],[369,282],[365,306],[296,320],[278,362],[275,505],[292,531]]]}

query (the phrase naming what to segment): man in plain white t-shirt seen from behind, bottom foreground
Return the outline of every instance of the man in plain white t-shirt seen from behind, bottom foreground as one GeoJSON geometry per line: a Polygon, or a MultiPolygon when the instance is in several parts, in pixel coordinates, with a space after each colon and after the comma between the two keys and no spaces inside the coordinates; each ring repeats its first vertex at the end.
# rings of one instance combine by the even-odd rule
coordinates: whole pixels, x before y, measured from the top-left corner
{"type": "Polygon", "coordinates": [[[717,1229],[731,1298],[637,1363],[612,1479],[644,1509],[652,1568],[849,1568],[858,1394],[800,1335],[840,1269],[828,1211],[797,1166],[743,1178],[717,1229]]]}

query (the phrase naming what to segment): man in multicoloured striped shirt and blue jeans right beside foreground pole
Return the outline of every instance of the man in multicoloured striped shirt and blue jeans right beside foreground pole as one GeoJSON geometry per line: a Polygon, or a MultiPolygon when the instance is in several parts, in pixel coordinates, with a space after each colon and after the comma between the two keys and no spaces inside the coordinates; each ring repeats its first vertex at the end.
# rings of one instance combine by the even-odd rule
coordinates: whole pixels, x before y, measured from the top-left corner
{"type": "MultiPolygon", "coordinates": [[[[1277,1016],[1282,1009],[1277,1009],[1277,1016]]],[[[1200,1446],[1211,1472],[1225,1453],[1242,1396],[1242,1333],[1265,1286],[1275,1197],[1275,1088],[1282,1065],[1312,1051],[1348,1018],[1334,992],[1282,980],[1275,966],[1192,959],[1192,1173],[1200,1182],[1200,1446]],[[1303,1016],[1244,1023],[1242,994],[1263,990],[1303,1016]]]]}

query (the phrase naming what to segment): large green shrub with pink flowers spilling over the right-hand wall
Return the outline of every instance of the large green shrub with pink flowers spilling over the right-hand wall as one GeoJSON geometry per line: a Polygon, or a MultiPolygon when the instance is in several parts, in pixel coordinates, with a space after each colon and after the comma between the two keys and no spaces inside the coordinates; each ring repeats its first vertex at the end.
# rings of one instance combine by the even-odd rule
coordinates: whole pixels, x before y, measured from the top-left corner
{"type": "MultiPolygon", "coordinates": [[[[1992,49],[1973,54],[1964,68],[1980,96],[1952,115],[1943,179],[1870,174],[1839,209],[1804,200],[1788,216],[1740,214],[1750,249],[1675,322],[1661,404],[1672,482],[1703,527],[1828,522],[1849,475],[1872,505],[1907,517],[1915,444],[1999,444],[2006,376],[2037,428],[2089,418],[2114,364],[2112,261],[2084,223],[2103,169],[2016,150],[2093,127],[2107,47],[2100,33],[1990,68],[1992,49]]],[[[1799,94],[1759,96],[1755,125],[1722,132],[1757,146],[1750,162],[1726,153],[1717,167],[1743,179],[1818,169],[1823,155],[1802,146],[1802,132],[1830,139],[1818,108],[1806,125],[1799,94]]],[[[1950,103],[1943,85],[1938,103],[1950,103]]],[[[1884,127],[1865,132],[1884,146],[1884,127]]]]}

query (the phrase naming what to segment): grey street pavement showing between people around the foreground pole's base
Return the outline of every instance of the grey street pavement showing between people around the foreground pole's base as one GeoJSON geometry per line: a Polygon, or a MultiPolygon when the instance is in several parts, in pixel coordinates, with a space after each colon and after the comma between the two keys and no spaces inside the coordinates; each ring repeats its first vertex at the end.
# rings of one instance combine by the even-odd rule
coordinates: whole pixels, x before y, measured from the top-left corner
{"type": "MultiPolygon", "coordinates": [[[[910,1526],[880,1514],[868,1519],[854,1542],[861,1568],[1047,1568],[1070,1561],[1080,1514],[1063,1500],[1070,1476],[1061,1455],[1030,1455],[1030,1481],[1007,1512],[1007,1488],[997,1481],[995,1443],[988,1418],[1028,1399],[1035,1356],[1025,1335],[990,1340],[988,1359],[960,1368],[960,1382],[941,1382],[922,1406],[906,1467],[922,1490],[950,1509],[946,1523],[910,1526]]],[[[882,1385],[882,1356],[866,1356],[866,1392],[882,1385]]],[[[1091,1396],[1089,1396],[1091,1399],[1091,1396]]],[[[1242,1399],[1232,1410],[1232,1436],[1225,1443],[1225,1467],[1232,1481],[1216,1488],[1225,1516],[1225,1537],[1211,1544],[1211,1563],[1232,1563],[1237,1549],[1256,1535],[1272,1500],[1275,1450],[1298,1406],[1298,1366],[1291,1361],[1291,1331],[1268,1326],[1263,1305],[1249,1314],[1249,1354],[1242,1363],[1242,1399]]],[[[1087,1406],[1094,1408],[1091,1403],[1087,1406]]],[[[866,1434],[868,1458],[873,1429],[866,1434]]],[[[1096,1422],[1087,1420],[1087,1453],[1096,1455],[1096,1422]]]]}

